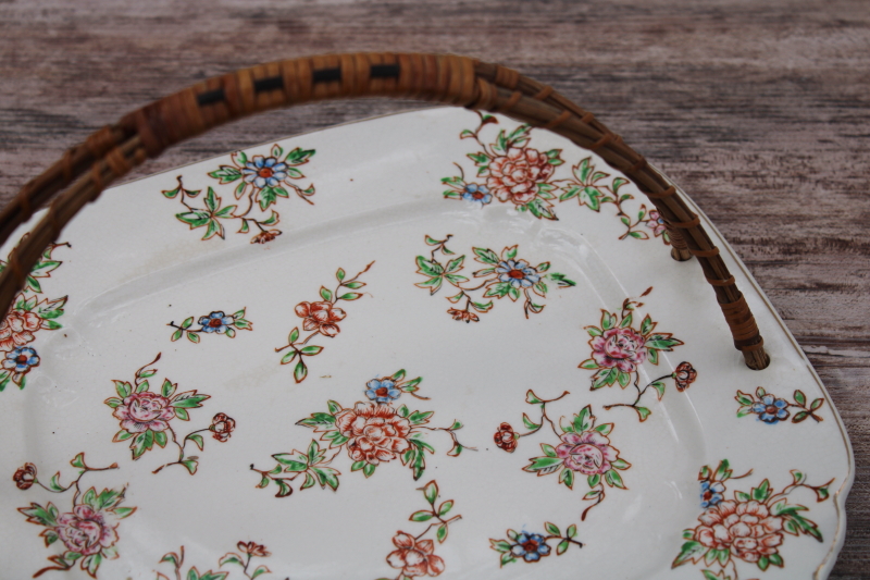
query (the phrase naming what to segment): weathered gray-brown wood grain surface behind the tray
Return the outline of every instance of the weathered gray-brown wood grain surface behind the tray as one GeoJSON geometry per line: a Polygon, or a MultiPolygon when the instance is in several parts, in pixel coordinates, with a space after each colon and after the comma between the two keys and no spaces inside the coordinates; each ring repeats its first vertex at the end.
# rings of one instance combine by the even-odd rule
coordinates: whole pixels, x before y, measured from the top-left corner
{"type": "MultiPolygon", "coordinates": [[[[0,0],[0,200],[91,131],[192,81],[351,50],[451,51],[518,67],[595,111],[692,195],[848,427],[857,481],[832,578],[870,578],[866,0],[0,0]]],[[[410,107],[265,114],[137,175],[410,107]]]]}

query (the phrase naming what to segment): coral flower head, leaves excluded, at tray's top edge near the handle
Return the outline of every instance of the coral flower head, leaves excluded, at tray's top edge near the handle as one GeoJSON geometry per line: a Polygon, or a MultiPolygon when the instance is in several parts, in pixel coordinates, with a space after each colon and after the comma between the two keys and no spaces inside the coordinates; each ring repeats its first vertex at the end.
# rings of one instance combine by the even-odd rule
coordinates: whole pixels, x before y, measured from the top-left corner
{"type": "Polygon", "coordinates": [[[540,151],[510,149],[489,163],[486,185],[499,200],[522,206],[537,196],[537,184],[549,180],[554,171],[547,156],[540,151]]]}

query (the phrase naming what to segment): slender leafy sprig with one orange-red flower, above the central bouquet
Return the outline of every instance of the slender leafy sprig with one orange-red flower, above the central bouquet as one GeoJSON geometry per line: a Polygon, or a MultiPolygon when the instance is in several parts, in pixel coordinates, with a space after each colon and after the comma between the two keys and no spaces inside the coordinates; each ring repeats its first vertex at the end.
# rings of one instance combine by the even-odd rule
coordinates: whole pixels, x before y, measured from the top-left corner
{"type": "Polygon", "coordinates": [[[302,330],[310,334],[300,340],[299,326],[294,326],[289,336],[287,336],[287,344],[275,348],[275,353],[281,353],[288,348],[290,349],[289,353],[281,357],[282,365],[289,365],[296,360],[297,357],[299,358],[293,370],[293,378],[297,383],[301,383],[306,380],[306,377],[308,377],[306,357],[313,357],[323,351],[322,346],[309,345],[308,341],[318,335],[325,336],[326,338],[335,338],[335,336],[341,332],[338,323],[345,319],[347,313],[344,309],[337,308],[336,305],[340,300],[350,301],[362,298],[362,293],[347,291],[356,291],[363,287],[365,283],[360,282],[359,277],[368,272],[373,264],[373,261],[369,262],[369,266],[350,279],[348,279],[347,273],[339,268],[335,272],[335,279],[338,281],[338,285],[334,291],[331,291],[326,286],[321,286],[321,299],[319,301],[299,303],[296,305],[296,316],[302,319],[302,330]]]}

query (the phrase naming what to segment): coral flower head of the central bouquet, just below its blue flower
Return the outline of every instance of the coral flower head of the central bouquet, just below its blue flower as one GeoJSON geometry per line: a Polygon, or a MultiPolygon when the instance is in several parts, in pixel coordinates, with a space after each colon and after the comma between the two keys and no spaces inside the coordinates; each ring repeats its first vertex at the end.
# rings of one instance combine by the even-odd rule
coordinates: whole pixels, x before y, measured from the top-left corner
{"type": "Polygon", "coordinates": [[[335,427],[350,441],[347,453],[355,461],[378,465],[406,452],[411,444],[411,423],[399,417],[389,405],[357,403],[335,416],[335,427]]]}

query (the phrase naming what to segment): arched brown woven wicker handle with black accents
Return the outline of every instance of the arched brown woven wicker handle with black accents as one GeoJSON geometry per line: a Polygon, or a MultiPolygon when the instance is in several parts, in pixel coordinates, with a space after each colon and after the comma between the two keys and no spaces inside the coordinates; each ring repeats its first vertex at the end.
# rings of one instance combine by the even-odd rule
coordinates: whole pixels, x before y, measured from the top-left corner
{"type": "Polygon", "coordinates": [[[58,195],[47,215],[0,274],[0,311],[24,286],[26,272],[64,225],[113,181],[163,149],[252,113],[322,99],[360,96],[417,98],[504,113],[549,129],[597,152],[639,187],[667,222],[678,260],[698,258],[716,292],[734,346],[746,365],[763,369],[769,357],[755,318],[734,277],[675,188],[605,125],[556,92],[496,64],[456,55],[332,54],[262,64],[198,83],[107,126],[27,183],[0,212],[0,243],[34,209],[58,195]],[[73,183],[75,181],[75,183],[73,183]]]}

